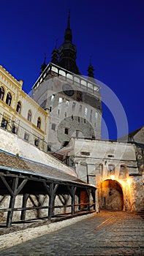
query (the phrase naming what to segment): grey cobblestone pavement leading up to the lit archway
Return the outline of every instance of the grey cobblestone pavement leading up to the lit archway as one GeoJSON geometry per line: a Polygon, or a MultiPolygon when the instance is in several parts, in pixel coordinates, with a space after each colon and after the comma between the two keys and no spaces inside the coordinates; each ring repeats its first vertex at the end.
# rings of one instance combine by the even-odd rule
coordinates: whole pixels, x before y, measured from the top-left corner
{"type": "Polygon", "coordinates": [[[0,255],[144,255],[143,218],[144,214],[101,211],[61,230],[1,249],[0,255]]]}

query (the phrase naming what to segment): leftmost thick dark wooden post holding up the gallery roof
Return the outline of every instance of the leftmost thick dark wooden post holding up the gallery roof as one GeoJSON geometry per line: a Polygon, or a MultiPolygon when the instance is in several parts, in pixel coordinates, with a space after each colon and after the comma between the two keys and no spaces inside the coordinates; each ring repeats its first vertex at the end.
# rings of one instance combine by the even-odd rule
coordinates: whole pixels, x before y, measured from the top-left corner
{"type": "Polygon", "coordinates": [[[9,208],[11,208],[11,210],[8,211],[8,213],[7,213],[7,227],[11,227],[11,225],[12,225],[13,209],[15,206],[15,197],[17,195],[17,188],[18,188],[18,177],[13,178],[13,182],[12,182],[13,195],[10,195],[9,208]]]}

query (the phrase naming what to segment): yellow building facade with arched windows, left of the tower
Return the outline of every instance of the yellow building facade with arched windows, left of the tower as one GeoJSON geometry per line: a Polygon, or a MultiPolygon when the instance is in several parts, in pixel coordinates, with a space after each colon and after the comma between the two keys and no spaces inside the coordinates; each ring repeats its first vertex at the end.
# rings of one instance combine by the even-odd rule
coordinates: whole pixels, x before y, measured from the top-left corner
{"type": "Polygon", "coordinates": [[[0,66],[0,127],[47,151],[48,113],[22,86],[23,80],[16,80],[0,66]]]}

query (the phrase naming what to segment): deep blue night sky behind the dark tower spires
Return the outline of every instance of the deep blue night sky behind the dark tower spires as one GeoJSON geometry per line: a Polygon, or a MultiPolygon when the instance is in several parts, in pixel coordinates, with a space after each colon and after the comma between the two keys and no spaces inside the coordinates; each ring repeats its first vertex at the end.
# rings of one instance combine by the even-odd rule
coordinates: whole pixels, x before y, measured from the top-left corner
{"type": "MultiPolygon", "coordinates": [[[[0,8],[0,64],[16,79],[24,80],[24,91],[29,93],[37,80],[44,53],[48,63],[56,39],[58,47],[64,42],[70,9],[81,74],[87,75],[92,56],[95,78],[105,83],[120,100],[129,132],[143,126],[143,0],[7,0],[1,1],[0,8]]],[[[109,138],[115,139],[117,129],[108,108],[104,105],[103,118],[109,138]]],[[[119,123],[119,127],[124,128],[123,120],[119,123]]],[[[118,132],[118,135],[124,134],[124,129],[118,132]]]]}

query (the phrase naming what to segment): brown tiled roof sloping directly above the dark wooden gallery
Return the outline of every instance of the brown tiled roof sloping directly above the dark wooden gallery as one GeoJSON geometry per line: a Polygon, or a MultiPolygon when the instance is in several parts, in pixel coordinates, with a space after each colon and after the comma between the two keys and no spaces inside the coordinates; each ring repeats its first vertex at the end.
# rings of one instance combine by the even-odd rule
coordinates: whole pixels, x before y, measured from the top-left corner
{"type": "Polygon", "coordinates": [[[75,182],[79,184],[86,184],[79,178],[64,173],[62,170],[58,170],[58,168],[43,165],[42,163],[34,162],[22,157],[17,157],[14,154],[0,150],[0,169],[3,169],[3,167],[4,170],[18,171],[21,173],[26,173],[27,175],[33,174],[52,180],[71,181],[72,183],[75,182]]]}

